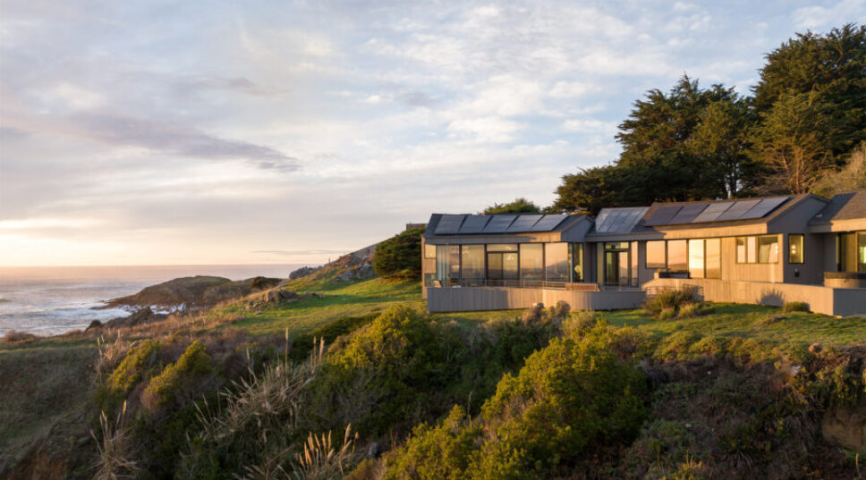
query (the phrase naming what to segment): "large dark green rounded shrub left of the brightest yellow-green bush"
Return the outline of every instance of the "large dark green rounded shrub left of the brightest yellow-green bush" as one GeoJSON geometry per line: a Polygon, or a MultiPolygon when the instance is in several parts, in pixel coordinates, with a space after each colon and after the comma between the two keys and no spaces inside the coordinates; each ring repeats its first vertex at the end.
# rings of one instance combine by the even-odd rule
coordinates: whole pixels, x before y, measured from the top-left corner
{"type": "Polygon", "coordinates": [[[463,350],[454,329],[407,307],[389,308],[328,352],[313,401],[332,423],[320,429],[352,423],[361,434],[381,434],[390,425],[419,423],[458,378],[463,350]]]}

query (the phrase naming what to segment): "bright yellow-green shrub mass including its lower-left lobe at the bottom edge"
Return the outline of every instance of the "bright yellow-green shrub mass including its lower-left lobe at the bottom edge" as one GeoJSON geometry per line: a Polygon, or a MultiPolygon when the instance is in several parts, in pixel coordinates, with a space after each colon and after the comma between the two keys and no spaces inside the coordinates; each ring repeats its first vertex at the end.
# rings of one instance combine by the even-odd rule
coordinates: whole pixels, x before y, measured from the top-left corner
{"type": "Polygon", "coordinates": [[[503,376],[479,420],[453,410],[445,423],[416,430],[386,478],[547,478],[590,445],[627,442],[646,415],[646,378],[619,361],[609,340],[605,324],[554,339],[518,375],[503,376]]]}

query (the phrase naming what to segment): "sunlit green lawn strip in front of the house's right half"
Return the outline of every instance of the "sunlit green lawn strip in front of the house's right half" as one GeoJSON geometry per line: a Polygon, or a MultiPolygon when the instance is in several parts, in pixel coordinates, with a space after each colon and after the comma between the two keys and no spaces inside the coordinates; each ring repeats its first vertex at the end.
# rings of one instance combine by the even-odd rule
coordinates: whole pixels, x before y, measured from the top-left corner
{"type": "Polygon", "coordinates": [[[832,343],[844,345],[866,341],[866,318],[836,318],[806,312],[782,313],[782,308],[743,305],[735,303],[714,304],[715,313],[694,318],[657,320],[643,310],[616,310],[604,312],[609,324],[634,326],[659,339],[678,330],[687,330],[701,335],[739,336],[763,341],[796,341],[802,343],[832,343]],[[778,316],[767,321],[768,316],[778,316]]]}

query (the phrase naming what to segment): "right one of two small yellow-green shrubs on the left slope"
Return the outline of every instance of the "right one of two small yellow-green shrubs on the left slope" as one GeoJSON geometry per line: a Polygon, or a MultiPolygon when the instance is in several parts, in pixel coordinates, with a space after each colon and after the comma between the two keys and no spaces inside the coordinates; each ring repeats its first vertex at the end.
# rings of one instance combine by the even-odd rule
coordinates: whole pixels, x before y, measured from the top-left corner
{"type": "Polygon", "coordinates": [[[161,374],[150,379],[142,398],[145,407],[154,411],[159,405],[173,400],[189,388],[197,376],[207,374],[212,369],[204,344],[193,341],[175,363],[166,366],[161,374]]]}

